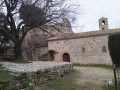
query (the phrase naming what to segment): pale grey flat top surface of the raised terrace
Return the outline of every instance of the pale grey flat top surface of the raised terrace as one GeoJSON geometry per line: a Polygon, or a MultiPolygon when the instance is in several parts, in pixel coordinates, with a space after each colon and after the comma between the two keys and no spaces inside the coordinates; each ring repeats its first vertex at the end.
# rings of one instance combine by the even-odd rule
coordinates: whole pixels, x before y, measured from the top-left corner
{"type": "Polygon", "coordinates": [[[2,67],[12,72],[36,72],[37,70],[44,70],[46,68],[51,68],[55,66],[62,66],[68,64],[69,62],[42,62],[42,61],[33,61],[32,63],[27,64],[17,64],[10,62],[0,62],[2,67]]]}

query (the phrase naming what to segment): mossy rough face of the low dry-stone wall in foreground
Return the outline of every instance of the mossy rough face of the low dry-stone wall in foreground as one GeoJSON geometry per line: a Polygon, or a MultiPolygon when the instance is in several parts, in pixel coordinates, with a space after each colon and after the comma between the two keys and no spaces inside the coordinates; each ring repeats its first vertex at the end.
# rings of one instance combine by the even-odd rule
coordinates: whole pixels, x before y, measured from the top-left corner
{"type": "Polygon", "coordinates": [[[73,65],[69,63],[38,70],[37,72],[22,73],[8,81],[0,81],[0,90],[36,90],[36,86],[63,76],[64,73],[71,72],[72,70],[73,65]]]}

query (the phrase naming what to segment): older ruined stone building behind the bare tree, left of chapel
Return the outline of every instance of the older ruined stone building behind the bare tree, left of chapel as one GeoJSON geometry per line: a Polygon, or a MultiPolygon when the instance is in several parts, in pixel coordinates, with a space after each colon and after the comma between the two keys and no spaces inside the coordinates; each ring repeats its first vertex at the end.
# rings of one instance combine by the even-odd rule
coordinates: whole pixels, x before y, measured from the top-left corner
{"type": "Polygon", "coordinates": [[[24,58],[27,60],[49,60],[47,39],[65,33],[73,33],[70,22],[65,18],[56,25],[40,26],[30,30],[24,40],[24,58]]]}

